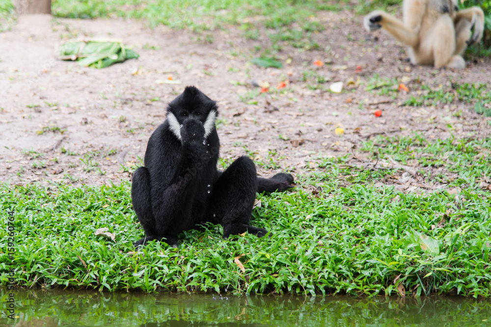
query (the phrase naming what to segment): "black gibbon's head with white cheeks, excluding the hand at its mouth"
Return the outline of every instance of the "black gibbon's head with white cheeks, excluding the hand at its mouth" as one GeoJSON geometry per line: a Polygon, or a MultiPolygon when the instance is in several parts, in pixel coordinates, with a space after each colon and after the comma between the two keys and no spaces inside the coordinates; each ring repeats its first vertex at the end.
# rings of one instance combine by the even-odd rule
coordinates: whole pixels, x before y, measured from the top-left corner
{"type": "Polygon", "coordinates": [[[215,128],[217,115],[217,103],[193,86],[186,87],[167,107],[167,121],[179,140],[181,125],[188,119],[200,121],[205,127],[205,138],[208,137],[215,128]]]}

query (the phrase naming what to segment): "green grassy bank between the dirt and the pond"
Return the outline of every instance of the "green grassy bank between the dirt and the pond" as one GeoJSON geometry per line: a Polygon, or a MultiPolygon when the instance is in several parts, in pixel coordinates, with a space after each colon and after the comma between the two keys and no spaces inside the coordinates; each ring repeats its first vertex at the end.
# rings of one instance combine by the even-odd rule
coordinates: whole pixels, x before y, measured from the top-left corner
{"type": "MultiPolygon", "coordinates": [[[[128,182],[2,184],[0,249],[13,211],[20,286],[490,297],[490,151],[489,139],[378,138],[357,152],[363,160],[320,157],[297,171],[292,192],[258,196],[253,225],[271,239],[222,240],[210,225],[183,233],[177,249],[153,243],[142,252],[133,252],[143,232],[128,182]],[[419,184],[387,186],[407,177],[380,167],[389,157],[417,170],[419,184]],[[102,227],[115,242],[94,234],[102,227]]],[[[10,261],[2,252],[0,269],[10,261]]]]}

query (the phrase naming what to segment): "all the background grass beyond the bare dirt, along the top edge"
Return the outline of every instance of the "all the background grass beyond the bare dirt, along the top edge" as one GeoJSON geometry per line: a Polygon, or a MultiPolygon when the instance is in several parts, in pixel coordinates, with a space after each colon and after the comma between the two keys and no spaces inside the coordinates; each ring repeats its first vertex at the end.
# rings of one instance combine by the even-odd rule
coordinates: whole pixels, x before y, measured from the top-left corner
{"type": "MultiPolygon", "coordinates": [[[[480,5],[483,8],[486,31],[484,41],[470,47],[468,52],[486,57],[491,51],[491,0],[465,1],[461,6],[472,5],[480,5]]],[[[337,11],[345,8],[354,9],[357,14],[363,15],[374,9],[394,12],[400,6],[400,1],[395,0],[358,1],[355,4],[347,0],[54,0],[52,12],[55,17],[63,18],[141,19],[151,27],[162,24],[198,33],[217,28],[227,29],[230,24],[238,25],[248,39],[257,40],[261,35],[268,37],[270,44],[263,49],[262,54],[269,55],[282,50],[284,42],[298,48],[299,52],[319,49],[320,46],[312,34],[325,28],[315,19],[319,11],[337,11]],[[251,17],[254,18],[253,21],[251,17]],[[300,27],[292,28],[293,23],[300,27]]],[[[15,18],[11,0],[0,0],[0,32],[10,29],[15,18]]],[[[213,42],[212,35],[206,35],[204,39],[206,42],[213,42]]]]}

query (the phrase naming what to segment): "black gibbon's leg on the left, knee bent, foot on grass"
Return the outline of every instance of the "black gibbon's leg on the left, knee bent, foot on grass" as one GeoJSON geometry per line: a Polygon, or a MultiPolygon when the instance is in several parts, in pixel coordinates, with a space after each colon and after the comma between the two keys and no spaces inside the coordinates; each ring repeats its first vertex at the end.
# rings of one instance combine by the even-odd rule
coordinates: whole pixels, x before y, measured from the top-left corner
{"type": "Polygon", "coordinates": [[[152,213],[150,190],[150,173],[147,168],[140,167],[133,174],[131,198],[136,217],[138,217],[146,236],[136,241],[134,245],[137,248],[139,246],[145,246],[150,241],[164,240],[172,247],[176,247],[177,237],[172,235],[158,235],[158,232],[154,229],[155,218],[152,213]]]}

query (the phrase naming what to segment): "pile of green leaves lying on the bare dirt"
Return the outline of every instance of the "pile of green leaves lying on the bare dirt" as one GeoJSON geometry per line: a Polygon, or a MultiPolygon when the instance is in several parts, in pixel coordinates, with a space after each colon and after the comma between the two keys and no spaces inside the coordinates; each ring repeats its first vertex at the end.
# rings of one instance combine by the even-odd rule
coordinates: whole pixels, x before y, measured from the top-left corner
{"type": "Polygon", "coordinates": [[[69,40],[60,46],[60,59],[77,60],[83,67],[105,68],[139,55],[119,41],[69,40]]]}

